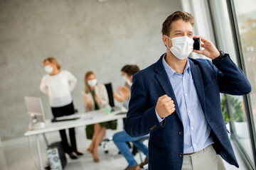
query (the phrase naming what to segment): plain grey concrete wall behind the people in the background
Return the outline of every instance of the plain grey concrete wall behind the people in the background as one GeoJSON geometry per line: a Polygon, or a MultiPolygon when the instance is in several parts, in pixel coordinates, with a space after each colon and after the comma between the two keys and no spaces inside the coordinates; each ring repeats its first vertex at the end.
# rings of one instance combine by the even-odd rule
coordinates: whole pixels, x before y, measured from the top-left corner
{"type": "Polygon", "coordinates": [[[52,118],[48,97],[39,90],[43,59],[56,57],[78,78],[73,99],[82,111],[85,72],[94,71],[114,89],[124,84],[124,64],[143,69],[165,52],[161,23],[177,10],[179,0],[1,0],[1,140],[26,131],[24,96],[41,96],[46,118],[52,118]]]}

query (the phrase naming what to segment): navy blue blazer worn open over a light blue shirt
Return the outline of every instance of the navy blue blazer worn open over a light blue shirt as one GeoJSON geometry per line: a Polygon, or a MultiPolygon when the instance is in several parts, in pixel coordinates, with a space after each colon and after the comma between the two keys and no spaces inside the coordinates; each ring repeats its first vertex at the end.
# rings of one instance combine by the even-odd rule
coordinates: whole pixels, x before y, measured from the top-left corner
{"type": "MultiPolygon", "coordinates": [[[[183,124],[174,90],[162,64],[163,56],[134,75],[124,128],[132,137],[150,133],[149,169],[178,170],[183,163],[183,124]],[[155,107],[158,98],[164,94],[174,100],[176,111],[161,125],[155,107]]],[[[249,94],[252,90],[250,82],[229,55],[214,64],[203,59],[188,58],[188,61],[203,113],[211,128],[213,147],[226,162],[238,167],[221,111],[220,93],[249,94]]]]}

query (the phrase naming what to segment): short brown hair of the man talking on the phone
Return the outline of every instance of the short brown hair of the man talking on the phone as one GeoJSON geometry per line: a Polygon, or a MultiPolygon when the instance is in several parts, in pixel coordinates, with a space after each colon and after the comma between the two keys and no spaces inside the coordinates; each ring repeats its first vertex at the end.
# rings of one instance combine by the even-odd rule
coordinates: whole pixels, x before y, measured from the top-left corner
{"type": "Polygon", "coordinates": [[[180,20],[180,19],[185,22],[190,22],[193,27],[194,18],[191,13],[187,13],[184,11],[176,11],[166,18],[166,20],[164,21],[164,23],[162,25],[161,33],[163,35],[169,36],[169,34],[171,32],[171,23],[173,23],[174,21],[180,20]]]}

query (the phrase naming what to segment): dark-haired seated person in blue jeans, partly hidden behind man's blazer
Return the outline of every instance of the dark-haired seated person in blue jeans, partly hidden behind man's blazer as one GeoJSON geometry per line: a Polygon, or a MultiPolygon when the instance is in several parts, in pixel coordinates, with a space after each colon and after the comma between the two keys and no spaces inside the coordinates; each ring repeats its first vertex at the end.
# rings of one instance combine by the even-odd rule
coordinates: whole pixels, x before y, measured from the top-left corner
{"type": "MultiPolygon", "coordinates": [[[[129,65],[123,70],[123,72],[124,72],[125,79],[127,80],[127,84],[129,84],[129,86],[132,86],[132,77],[134,74],[139,72],[139,67],[137,67],[137,65],[129,65]]],[[[117,99],[117,101],[123,102],[123,106],[128,109],[128,103],[129,103],[131,91],[125,86],[119,86],[117,88],[117,91],[119,95],[114,92],[114,98],[117,99]]],[[[117,148],[119,149],[119,151],[122,153],[122,155],[124,156],[124,158],[127,160],[129,164],[125,170],[139,170],[140,167],[143,167],[145,164],[148,163],[149,150],[143,144],[143,142],[139,141],[142,138],[144,138],[144,136],[131,137],[124,130],[114,134],[113,136],[114,144],[117,145],[117,148]],[[132,154],[132,152],[129,151],[129,145],[127,144],[127,142],[132,142],[133,145],[137,147],[137,149],[141,150],[145,154],[146,159],[144,162],[142,162],[142,164],[140,165],[137,164],[136,160],[134,159],[134,155],[132,154]]]]}

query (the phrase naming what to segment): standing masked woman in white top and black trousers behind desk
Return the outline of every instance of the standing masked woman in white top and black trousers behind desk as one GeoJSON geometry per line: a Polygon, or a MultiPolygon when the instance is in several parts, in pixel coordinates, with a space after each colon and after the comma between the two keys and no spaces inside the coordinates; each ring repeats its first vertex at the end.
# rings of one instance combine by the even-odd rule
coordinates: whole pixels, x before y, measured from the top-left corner
{"type": "MultiPolygon", "coordinates": [[[[57,118],[63,115],[72,115],[75,113],[71,91],[75,88],[77,79],[68,72],[68,70],[60,70],[60,64],[54,57],[48,57],[43,61],[43,67],[48,74],[43,76],[40,84],[40,90],[49,96],[50,107],[53,117],[57,118]]],[[[75,141],[75,128],[70,128],[70,142],[65,130],[60,130],[60,137],[63,148],[71,159],[78,159],[75,154],[82,155],[78,152],[75,141]],[[75,152],[75,154],[73,154],[75,152]]]]}

